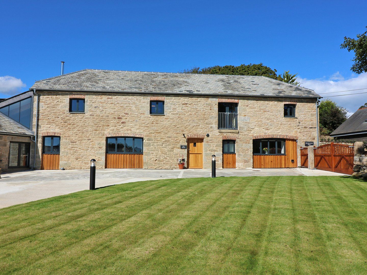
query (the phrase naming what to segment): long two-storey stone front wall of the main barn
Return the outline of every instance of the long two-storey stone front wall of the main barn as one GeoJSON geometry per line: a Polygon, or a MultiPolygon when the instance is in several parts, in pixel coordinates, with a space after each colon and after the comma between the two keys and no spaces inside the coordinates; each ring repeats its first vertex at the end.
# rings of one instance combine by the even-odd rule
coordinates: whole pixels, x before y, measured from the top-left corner
{"type": "Polygon", "coordinates": [[[161,95],[56,91],[37,94],[38,168],[44,132],[61,133],[60,167],[65,169],[89,168],[91,158],[97,159],[97,168],[104,168],[106,136],[116,132],[143,135],[144,168],[178,168],[178,158],[187,158],[186,150],[180,149],[180,145],[187,144],[182,134],[209,134],[204,138],[204,168],[211,167],[212,154],[217,155],[217,167],[222,166],[224,135],[236,137],[238,168],[252,167],[252,136],[298,137],[298,163],[299,146],[305,141],[316,142],[314,99],[295,99],[297,117],[285,118],[283,107],[287,99],[234,98],[239,99],[239,130],[231,131],[218,130],[218,99],[223,101],[226,97],[165,95],[164,115],[150,115],[150,96],[161,95]],[[85,96],[85,113],[69,113],[73,94],[85,96]]]}

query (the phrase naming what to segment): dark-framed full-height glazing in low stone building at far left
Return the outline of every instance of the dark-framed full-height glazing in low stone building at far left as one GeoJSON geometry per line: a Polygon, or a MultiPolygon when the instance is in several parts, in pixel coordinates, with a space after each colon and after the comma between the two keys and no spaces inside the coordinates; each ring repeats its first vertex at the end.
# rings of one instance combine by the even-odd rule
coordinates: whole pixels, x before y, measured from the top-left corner
{"type": "Polygon", "coordinates": [[[10,142],[9,168],[29,167],[30,143],[10,142]]]}

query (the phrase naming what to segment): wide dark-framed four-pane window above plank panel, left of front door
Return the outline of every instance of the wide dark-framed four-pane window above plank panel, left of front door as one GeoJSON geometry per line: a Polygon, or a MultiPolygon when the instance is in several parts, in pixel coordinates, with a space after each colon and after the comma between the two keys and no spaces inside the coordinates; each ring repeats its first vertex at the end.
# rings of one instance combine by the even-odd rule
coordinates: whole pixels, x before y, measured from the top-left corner
{"type": "Polygon", "coordinates": [[[141,137],[108,137],[107,153],[141,154],[143,153],[143,139],[141,137]]]}

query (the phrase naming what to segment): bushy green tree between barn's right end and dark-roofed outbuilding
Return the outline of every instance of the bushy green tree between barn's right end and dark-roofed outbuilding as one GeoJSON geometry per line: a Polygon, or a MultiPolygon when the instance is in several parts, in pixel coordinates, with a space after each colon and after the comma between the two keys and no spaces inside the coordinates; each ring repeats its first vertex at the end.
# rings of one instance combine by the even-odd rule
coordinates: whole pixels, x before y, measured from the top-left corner
{"type": "Polygon", "coordinates": [[[338,106],[334,101],[326,99],[319,106],[320,135],[330,135],[345,120],[348,110],[338,106]]]}

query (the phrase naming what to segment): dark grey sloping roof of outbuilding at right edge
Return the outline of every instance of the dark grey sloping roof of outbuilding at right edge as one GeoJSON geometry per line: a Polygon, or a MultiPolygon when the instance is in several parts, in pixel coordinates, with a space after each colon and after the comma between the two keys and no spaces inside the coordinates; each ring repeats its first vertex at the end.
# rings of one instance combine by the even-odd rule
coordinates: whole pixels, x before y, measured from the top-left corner
{"type": "Polygon", "coordinates": [[[330,136],[351,134],[359,132],[367,132],[367,108],[357,110],[346,121],[342,123],[337,129],[330,134],[330,136]]]}

